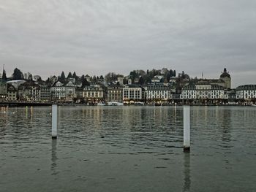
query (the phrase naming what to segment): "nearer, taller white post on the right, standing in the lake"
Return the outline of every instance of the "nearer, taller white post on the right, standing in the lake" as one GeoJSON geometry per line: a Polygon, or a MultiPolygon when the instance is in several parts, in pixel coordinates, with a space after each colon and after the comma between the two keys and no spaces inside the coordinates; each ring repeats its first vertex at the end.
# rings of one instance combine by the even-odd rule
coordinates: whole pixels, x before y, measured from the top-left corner
{"type": "Polygon", "coordinates": [[[190,151],[190,107],[183,107],[183,150],[184,152],[190,151]]]}

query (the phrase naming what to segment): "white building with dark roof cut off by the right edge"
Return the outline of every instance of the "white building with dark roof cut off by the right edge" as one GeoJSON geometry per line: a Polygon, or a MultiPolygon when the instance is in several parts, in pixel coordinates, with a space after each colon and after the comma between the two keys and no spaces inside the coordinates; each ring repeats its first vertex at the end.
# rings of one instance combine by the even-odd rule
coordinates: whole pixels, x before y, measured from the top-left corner
{"type": "Polygon", "coordinates": [[[240,85],[236,88],[237,99],[256,99],[256,85],[240,85]]]}

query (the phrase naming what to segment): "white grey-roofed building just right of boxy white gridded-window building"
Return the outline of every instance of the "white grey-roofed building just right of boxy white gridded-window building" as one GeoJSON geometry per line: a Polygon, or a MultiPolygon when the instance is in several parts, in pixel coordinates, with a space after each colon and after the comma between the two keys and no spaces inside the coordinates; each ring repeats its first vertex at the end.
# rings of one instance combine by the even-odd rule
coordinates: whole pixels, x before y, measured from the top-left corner
{"type": "Polygon", "coordinates": [[[149,84],[146,89],[146,101],[167,101],[172,98],[172,91],[169,85],[164,83],[149,84]]]}

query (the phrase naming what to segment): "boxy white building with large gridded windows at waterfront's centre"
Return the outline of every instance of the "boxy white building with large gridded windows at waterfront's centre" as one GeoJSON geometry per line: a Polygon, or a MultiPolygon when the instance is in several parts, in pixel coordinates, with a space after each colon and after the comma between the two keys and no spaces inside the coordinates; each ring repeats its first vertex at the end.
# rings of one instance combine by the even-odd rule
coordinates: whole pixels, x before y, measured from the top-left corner
{"type": "Polygon", "coordinates": [[[143,99],[142,88],[138,85],[126,85],[123,88],[123,101],[141,101],[143,99]]]}

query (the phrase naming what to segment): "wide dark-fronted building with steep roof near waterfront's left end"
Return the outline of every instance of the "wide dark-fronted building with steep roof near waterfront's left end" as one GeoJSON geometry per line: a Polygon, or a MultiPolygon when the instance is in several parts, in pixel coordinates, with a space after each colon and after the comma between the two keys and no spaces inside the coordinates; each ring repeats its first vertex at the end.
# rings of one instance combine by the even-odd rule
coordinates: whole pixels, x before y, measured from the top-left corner
{"type": "Polygon", "coordinates": [[[41,98],[40,86],[32,80],[20,84],[18,99],[21,101],[39,101],[41,98]]]}

